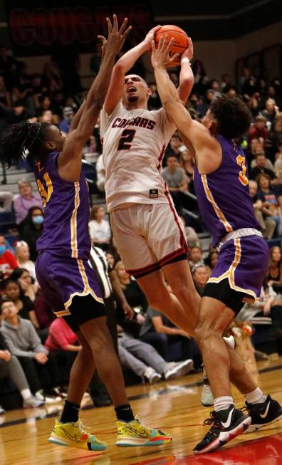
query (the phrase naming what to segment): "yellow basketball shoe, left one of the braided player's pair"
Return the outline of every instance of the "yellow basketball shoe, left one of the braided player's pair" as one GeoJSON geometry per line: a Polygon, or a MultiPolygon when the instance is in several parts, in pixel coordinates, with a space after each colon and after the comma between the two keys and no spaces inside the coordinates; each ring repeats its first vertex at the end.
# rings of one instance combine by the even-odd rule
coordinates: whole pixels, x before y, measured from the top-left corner
{"type": "Polygon", "coordinates": [[[107,449],[105,442],[99,441],[93,434],[83,429],[82,422],[61,423],[58,419],[52,429],[48,442],[58,446],[72,446],[88,451],[104,451],[107,449]]]}

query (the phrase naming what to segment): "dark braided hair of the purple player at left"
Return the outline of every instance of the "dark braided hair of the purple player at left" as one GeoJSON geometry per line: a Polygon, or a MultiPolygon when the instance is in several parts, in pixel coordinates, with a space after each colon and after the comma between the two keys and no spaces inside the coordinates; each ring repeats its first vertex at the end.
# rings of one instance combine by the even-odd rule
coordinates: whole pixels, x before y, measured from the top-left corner
{"type": "Polygon", "coordinates": [[[2,164],[19,164],[27,154],[40,155],[42,142],[49,124],[47,122],[18,122],[6,127],[0,137],[0,160],[2,164]]]}

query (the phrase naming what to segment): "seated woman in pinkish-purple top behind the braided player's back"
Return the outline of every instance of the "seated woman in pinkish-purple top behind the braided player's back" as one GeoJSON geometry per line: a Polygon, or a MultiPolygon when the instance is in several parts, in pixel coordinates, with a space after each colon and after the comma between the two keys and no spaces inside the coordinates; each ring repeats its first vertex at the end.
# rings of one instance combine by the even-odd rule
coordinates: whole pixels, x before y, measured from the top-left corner
{"type": "Polygon", "coordinates": [[[31,207],[42,207],[42,199],[38,192],[32,193],[31,183],[28,181],[19,182],[19,195],[14,199],[14,211],[16,224],[26,219],[28,210],[31,207]]]}

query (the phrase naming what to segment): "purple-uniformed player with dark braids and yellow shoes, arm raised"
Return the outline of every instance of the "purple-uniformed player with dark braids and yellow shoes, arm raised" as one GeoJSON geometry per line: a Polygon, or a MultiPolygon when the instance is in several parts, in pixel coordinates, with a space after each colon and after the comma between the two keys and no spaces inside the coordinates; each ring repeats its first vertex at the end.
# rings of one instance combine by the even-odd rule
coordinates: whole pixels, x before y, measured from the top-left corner
{"type": "Polygon", "coordinates": [[[135,419],[128,403],[120,362],[106,325],[98,277],[88,265],[89,195],[81,171],[83,146],[93,132],[105,100],[115,56],[127,33],[127,19],[120,30],[114,15],[108,21],[108,40],[103,41],[103,60],[68,136],[46,123],[21,122],[1,135],[1,162],[11,166],[28,151],[35,164],[36,182],[43,199],[45,221],[38,240],[36,276],[56,315],[77,334],[79,350],[71,369],[68,397],[63,413],[49,438],[53,444],[80,449],[106,449],[79,422],[80,402],[95,368],[107,387],[117,414],[117,445],[150,446],[171,442],[172,437],[150,429],[135,419]]]}

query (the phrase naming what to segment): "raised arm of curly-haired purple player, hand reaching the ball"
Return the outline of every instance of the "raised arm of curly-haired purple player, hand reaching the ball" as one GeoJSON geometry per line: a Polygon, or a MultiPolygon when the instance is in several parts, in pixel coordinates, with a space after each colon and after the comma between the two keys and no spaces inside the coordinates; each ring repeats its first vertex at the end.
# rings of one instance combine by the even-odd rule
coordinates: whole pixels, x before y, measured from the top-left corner
{"type": "Polygon", "coordinates": [[[157,90],[169,119],[177,125],[182,133],[184,144],[186,142],[187,145],[192,144],[194,151],[197,152],[199,172],[207,174],[214,171],[221,162],[220,145],[215,137],[211,136],[207,127],[192,120],[179,98],[177,89],[169,79],[165,65],[175,58],[169,58],[172,43],[173,40],[167,45],[166,38],[161,38],[159,47],[156,49],[155,42],[152,41],[152,66],[155,71],[157,90]]]}

